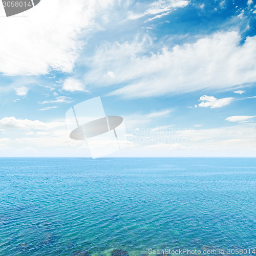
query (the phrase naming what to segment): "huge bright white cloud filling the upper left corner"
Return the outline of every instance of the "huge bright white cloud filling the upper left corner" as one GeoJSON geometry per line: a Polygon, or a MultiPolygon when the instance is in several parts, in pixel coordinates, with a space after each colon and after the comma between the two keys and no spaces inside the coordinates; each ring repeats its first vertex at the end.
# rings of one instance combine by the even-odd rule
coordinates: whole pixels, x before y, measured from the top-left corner
{"type": "Polygon", "coordinates": [[[74,4],[73,0],[44,0],[23,13],[25,17],[1,18],[0,72],[71,72],[82,46],[81,31],[84,36],[97,30],[96,15],[114,2],[77,0],[74,4]]]}

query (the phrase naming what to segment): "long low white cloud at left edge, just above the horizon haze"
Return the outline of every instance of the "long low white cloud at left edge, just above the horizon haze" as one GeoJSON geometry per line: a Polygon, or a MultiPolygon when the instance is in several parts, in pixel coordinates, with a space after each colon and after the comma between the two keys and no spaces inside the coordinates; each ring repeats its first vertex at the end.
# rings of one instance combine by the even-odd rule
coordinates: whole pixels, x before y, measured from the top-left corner
{"type": "Polygon", "coordinates": [[[4,117],[0,120],[0,129],[35,129],[46,130],[66,125],[63,122],[41,122],[39,120],[16,119],[15,117],[4,117]]]}

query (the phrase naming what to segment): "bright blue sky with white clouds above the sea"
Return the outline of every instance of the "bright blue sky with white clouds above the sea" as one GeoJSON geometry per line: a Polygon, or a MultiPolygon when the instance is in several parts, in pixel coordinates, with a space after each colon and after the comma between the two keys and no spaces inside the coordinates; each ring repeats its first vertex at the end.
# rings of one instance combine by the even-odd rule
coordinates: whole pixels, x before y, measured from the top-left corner
{"type": "Polygon", "coordinates": [[[0,16],[2,156],[90,156],[65,114],[97,96],[124,118],[113,156],[256,156],[253,0],[41,0],[0,16]]]}

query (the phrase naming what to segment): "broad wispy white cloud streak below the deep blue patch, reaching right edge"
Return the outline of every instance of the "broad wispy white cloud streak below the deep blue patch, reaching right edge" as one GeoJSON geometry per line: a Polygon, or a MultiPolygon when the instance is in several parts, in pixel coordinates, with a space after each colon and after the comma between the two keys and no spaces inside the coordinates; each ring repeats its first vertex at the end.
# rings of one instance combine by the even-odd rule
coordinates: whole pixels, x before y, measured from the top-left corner
{"type": "Polygon", "coordinates": [[[238,32],[218,32],[173,48],[150,37],[106,43],[88,59],[84,83],[95,86],[127,84],[112,92],[123,97],[150,97],[206,89],[235,89],[256,81],[256,36],[240,44],[238,32]],[[159,49],[152,52],[152,49],[159,49]],[[150,54],[148,54],[150,52],[150,54]],[[114,78],[104,77],[111,70],[114,78]]]}

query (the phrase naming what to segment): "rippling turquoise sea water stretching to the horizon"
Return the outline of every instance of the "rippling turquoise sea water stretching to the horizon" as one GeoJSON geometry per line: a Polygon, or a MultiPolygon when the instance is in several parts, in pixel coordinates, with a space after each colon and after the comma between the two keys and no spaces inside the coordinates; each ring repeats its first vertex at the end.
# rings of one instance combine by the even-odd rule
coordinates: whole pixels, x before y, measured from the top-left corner
{"type": "Polygon", "coordinates": [[[0,163],[1,256],[256,248],[255,158],[0,163]]]}

